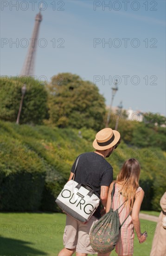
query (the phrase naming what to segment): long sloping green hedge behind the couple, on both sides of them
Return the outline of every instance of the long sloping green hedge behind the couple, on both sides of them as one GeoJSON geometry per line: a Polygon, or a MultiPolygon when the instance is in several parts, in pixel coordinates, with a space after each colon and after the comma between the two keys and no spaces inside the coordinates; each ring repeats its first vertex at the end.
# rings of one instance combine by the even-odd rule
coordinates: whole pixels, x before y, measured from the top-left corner
{"type": "MultiPolygon", "coordinates": [[[[77,155],[93,151],[96,132],[3,121],[0,128],[0,210],[60,211],[55,199],[77,155]]],[[[160,210],[166,186],[165,153],[159,148],[129,148],[121,141],[107,159],[114,167],[114,179],[130,157],[141,165],[140,186],[145,191],[141,209],[160,210]]]]}

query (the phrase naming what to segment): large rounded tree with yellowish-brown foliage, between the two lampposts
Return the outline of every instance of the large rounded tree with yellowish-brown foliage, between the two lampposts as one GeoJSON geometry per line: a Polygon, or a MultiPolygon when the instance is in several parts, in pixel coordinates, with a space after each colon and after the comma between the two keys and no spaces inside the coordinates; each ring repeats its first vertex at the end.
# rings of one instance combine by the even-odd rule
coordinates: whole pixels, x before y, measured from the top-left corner
{"type": "Polygon", "coordinates": [[[50,123],[58,127],[104,128],[105,99],[90,81],[76,74],[57,74],[48,92],[50,123]]]}

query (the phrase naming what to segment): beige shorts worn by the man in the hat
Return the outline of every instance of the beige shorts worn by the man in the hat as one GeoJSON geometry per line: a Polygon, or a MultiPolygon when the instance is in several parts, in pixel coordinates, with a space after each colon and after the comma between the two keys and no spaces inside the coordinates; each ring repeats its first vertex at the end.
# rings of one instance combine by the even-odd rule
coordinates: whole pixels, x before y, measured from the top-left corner
{"type": "Polygon", "coordinates": [[[90,246],[89,233],[92,226],[98,221],[92,216],[85,224],[66,215],[66,226],[64,229],[64,247],[75,249],[79,253],[93,254],[95,251],[90,246]]]}

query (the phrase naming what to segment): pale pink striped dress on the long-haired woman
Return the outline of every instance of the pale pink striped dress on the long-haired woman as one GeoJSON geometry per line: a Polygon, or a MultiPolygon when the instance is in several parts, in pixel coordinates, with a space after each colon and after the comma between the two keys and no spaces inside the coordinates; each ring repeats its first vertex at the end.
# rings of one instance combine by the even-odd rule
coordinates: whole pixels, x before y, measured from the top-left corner
{"type": "MultiPolygon", "coordinates": [[[[119,193],[119,188],[117,183],[115,183],[115,194],[113,197],[113,209],[116,210],[119,206],[125,201],[123,195],[119,193]]],[[[139,191],[141,188],[139,187],[136,191],[136,195],[139,195],[139,191]]],[[[125,218],[127,218],[130,210],[128,204],[125,203],[118,210],[120,223],[122,223],[125,218]]],[[[119,240],[116,243],[115,251],[118,255],[133,255],[134,252],[134,225],[132,223],[131,216],[128,216],[127,220],[121,227],[121,233],[119,236],[119,240]]]]}

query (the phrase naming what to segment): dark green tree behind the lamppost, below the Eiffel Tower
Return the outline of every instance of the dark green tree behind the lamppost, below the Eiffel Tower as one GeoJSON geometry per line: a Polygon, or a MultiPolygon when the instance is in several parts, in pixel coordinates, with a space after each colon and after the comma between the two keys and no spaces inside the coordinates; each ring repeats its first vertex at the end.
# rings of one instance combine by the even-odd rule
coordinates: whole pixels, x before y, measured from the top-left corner
{"type": "MultiPolygon", "coordinates": [[[[0,79],[1,119],[16,121],[21,100],[21,88],[24,81],[0,79]]],[[[41,124],[47,118],[47,91],[44,85],[31,77],[26,79],[26,94],[22,105],[20,123],[41,124]]]]}

